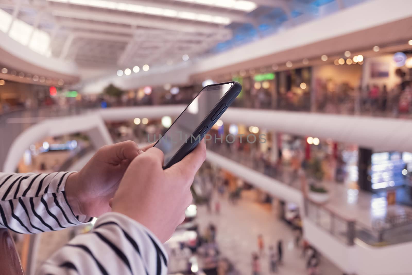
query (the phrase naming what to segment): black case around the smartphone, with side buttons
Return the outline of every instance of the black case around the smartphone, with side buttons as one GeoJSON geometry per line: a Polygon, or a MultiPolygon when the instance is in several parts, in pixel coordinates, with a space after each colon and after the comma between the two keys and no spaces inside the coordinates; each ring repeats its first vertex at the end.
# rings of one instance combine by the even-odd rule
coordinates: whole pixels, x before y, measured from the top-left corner
{"type": "MultiPolygon", "coordinates": [[[[180,147],[178,152],[171,158],[169,163],[167,163],[163,167],[163,169],[167,169],[167,168],[171,167],[173,164],[175,164],[176,162],[179,162],[180,160],[183,159],[183,157],[185,157],[187,154],[192,152],[192,150],[194,148],[196,148],[197,144],[199,144],[199,141],[201,141],[201,139],[203,139],[204,135],[207,134],[207,132],[211,129],[211,127],[215,124],[215,122],[222,116],[223,113],[225,113],[226,109],[230,106],[230,104],[240,94],[240,92],[242,90],[242,85],[240,85],[240,83],[236,82],[236,81],[229,81],[229,82],[222,82],[222,83],[207,85],[206,87],[201,89],[201,91],[196,95],[196,97],[197,97],[204,89],[206,89],[206,90],[213,89],[214,86],[224,85],[224,84],[228,84],[228,83],[233,83],[232,87],[230,87],[229,91],[226,92],[226,94],[222,97],[222,99],[220,99],[220,101],[215,105],[215,107],[213,107],[211,112],[206,116],[206,118],[201,122],[201,124],[196,128],[196,130],[194,130],[193,136],[197,137],[200,134],[200,139],[190,139],[189,138],[187,140],[187,142],[184,143],[183,146],[180,147]],[[226,105],[221,108],[221,106],[223,104],[226,104],[226,105]],[[217,114],[217,116],[215,116],[215,113],[217,113],[217,112],[218,112],[218,114],[217,114]],[[212,117],[213,117],[213,120],[212,120],[212,117]],[[207,127],[206,130],[203,129],[205,126],[207,127]],[[201,132],[203,132],[203,133],[201,133],[201,132]]],[[[187,107],[191,103],[192,102],[190,102],[187,105],[187,107]]],[[[187,107],[185,108],[185,110],[187,109],[187,107]]],[[[183,110],[183,112],[185,112],[185,110],[183,110]]],[[[180,115],[182,115],[182,114],[180,114],[180,115]]],[[[173,122],[173,124],[180,118],[180,115],[173,122]]],[[[172,125],[170,127],[172,127],[172,125]]],[[[169,129],[167,129],[166,132],[168,130],[169,129]]],[[[166,132],[164,134],[166,134],[166,132]]],[[[157,142],[159,142],[159,141],[157,141],[157,142]]],[[[157,144],[157,142],[156,142],[156,144],[157,144]]],[[[156,146],[156,144],[154,146],[156,146]]]]}

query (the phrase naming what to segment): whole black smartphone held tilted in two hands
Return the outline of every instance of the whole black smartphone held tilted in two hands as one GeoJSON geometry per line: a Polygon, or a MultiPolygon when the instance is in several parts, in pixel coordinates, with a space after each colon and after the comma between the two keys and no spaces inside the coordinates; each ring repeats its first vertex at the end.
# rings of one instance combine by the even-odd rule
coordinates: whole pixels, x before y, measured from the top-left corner
{"type": "Polygon", "coordinates": [[[164,169],[197,146],[241,90],[238,82],[231,81],[208,85],[197,94],[154,146],[164,153],[164,169]]]}

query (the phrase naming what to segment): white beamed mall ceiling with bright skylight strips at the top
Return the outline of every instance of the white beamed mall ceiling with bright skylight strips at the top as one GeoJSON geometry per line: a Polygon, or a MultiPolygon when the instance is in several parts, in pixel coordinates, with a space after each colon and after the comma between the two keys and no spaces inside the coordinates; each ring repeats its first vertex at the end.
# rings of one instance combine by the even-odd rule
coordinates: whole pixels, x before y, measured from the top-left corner
{"type": "MultiPolygon", "coordinates": [[[[345,1],[364,0],[332,0],[331,4],[339,9],[345,1]]],[[[0,0],[0,8],[47,33],[49,50],[55,58],[73,61],[80,68],[108,70],[178,63],[184,54],[192,59],[230,40],[234,28],[251,24],[258,29],[262,16],[276,9],[283,16],[279,26],[293,25],[299,22],[296,14],[311,14],[317,9],[315,2],[0,0]]],[[[33,40],[31,36],[29,40],[33,40]]]]}

